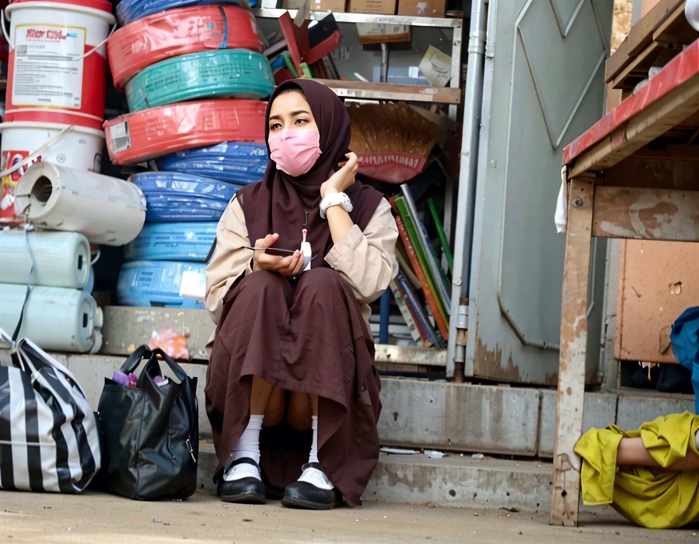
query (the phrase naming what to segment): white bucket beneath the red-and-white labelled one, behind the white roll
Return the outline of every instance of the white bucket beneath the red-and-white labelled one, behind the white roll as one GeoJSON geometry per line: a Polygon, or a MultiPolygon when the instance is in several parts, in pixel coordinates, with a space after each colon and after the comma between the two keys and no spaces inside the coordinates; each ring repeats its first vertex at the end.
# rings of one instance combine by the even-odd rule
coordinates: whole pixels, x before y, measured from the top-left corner
{"type": "MultiPolygon", "coordinates": [[[[29,153],[55,138],[66,126],[59,123],[32,121],[0,123],[0,134],[2,134],[0,170],[4,171],[15,162],[26,159],[29,153]]],[[[78,170],[99,172],[103,148],[104,131],[73,125],[73,129],[65,132],[57,141],[43,148],[40,153],[43,161],[78,170]]],[[[26,169],[27,167],[24,167],[17,171],[13,178],[19,180],[26,169]]]]}

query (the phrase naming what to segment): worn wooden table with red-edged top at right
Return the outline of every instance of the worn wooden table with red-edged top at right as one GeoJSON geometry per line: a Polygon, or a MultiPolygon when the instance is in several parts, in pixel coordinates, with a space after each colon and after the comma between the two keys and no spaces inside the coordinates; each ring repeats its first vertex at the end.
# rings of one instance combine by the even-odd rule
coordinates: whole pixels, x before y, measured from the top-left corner
{"type": "Polygon", "coordinates": [[[576,525],[591,237],[699,241],[699,41],[563,151],[568,168],[552,524],[576,525]]]}

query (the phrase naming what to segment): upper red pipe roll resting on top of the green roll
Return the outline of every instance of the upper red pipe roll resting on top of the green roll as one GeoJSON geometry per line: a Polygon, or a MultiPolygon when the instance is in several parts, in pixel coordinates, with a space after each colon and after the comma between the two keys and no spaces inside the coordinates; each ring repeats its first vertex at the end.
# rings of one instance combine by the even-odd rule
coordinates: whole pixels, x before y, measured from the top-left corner
{"type": "Polygon", "coordinates": [[[196,6],[161,11],[118,29],[107,42],[114,86],[123,92],[134,73],[158,61],[209,49],[261,53],[254,15],[238,6],[196,6]]]}

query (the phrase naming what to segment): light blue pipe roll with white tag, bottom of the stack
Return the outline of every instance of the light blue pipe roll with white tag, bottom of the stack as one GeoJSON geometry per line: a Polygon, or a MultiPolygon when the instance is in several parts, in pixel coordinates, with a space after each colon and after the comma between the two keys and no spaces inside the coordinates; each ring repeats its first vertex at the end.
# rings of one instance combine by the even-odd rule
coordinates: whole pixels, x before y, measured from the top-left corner
{"type": "Polygon", "coordinates": [[[203,302],[180,296],[182,273],[204,273],[206,264],[171,261],[136,261],[122,264],[117,299],[122,306],[164,306],[203,310],[203,302]]]}

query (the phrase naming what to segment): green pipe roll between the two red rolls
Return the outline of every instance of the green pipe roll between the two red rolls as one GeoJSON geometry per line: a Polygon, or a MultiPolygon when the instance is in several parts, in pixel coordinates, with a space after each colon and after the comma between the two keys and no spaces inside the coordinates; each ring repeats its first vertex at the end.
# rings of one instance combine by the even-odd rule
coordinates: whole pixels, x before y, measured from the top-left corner
{"type": "Polygon", "coordinates": [[[151,64],[124,91],[129,110],[140,111],[208,97],[259,100],[273,89],[267,57],[247,49],[219,49],[151,64]]]}

